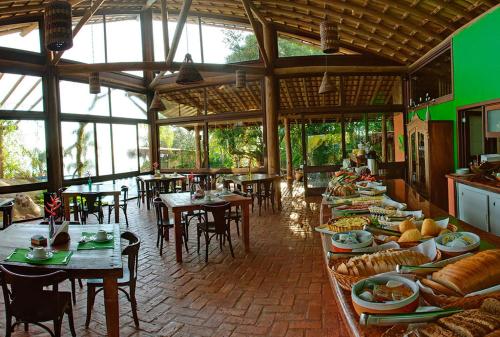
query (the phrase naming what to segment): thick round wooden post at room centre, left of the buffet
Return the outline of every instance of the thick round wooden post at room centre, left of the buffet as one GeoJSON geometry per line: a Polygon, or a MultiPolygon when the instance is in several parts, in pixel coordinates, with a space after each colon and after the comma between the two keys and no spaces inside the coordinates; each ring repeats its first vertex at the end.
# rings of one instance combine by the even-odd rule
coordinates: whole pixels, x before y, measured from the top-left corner
{"type": "MultiPolygon", "coordinates": [[[[255,32],[256,34],[258,32],[255,32]]],[[[271,26],[264,26],[264,49],[269,60],[269,69],[264,77],[264,88],[266,97],[266,145],[267,145],[267,172],[269,174],[280,174],[279,141],[278,141],[278,107],[279,88],[278,80],[272,73],[274,61],[277,59],[276,30],[271,26]]],[[[281,209],[281,188],[275,186],[276,204],[281,209]]]]}

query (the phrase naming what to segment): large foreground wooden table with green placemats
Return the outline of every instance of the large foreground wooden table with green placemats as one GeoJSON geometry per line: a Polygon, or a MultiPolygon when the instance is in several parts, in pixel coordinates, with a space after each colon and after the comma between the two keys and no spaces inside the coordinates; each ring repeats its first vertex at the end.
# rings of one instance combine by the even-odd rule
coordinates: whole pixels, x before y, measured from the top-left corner
{"type": "Polygon", "coordinates": [[[102,278],[104,281],[107,336],[118,337],[120,336],[120,315],[117,280],[123,276],[120,226],[118,224],[70,225],[68,231],[71,236],[69,244],[52,247],[57,250],[72,250],[74,252],[67,265],[42,266],[4,261],[15,248],[29,247],[31,245],[30,239],[34,234],[48,237],[49,229],[47,225],[26,223],[14,224],[2,231],[2,235],[0,235],[0,263],[20,273],[64,270],[69,277],[102,278]],[[113,249],[77,250],[82,232],[95,232],[99,229],[113,232],[115,237],[113,249]]]}

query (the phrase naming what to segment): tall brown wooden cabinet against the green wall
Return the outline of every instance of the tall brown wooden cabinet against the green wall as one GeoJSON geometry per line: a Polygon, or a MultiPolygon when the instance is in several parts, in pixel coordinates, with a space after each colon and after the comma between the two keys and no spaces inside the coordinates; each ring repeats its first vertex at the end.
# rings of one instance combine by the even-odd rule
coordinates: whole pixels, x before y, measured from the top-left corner
{"type": "Polygon", "coordinates": [[[417,114],[408,123],[410,184],[443,209],[448,207],[445,175],[453,171],[453,122],[423,121],[417,114]]]}

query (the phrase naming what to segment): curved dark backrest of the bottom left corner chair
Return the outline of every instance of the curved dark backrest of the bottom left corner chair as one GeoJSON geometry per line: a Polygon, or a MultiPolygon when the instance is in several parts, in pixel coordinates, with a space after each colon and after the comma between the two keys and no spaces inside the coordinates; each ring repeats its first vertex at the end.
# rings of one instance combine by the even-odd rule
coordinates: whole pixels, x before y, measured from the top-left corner
{"type": "Polygon", "coordinates": [[[52,286],[54,297],[50,300],[58,302],[58,284],[67,278],[68,274],[62,270],[49,274],[25,275],[12,272],[0,265],[0,284],[3,290],[5,310],[10,312],[12,302],[16,301],[16,313],[19,310],[19,303],[22,307],[22,313],[19,314],[23,317],[18,318],[36,317],[40,305],[46,305],[47,301],[43,287],[52,286]]]}

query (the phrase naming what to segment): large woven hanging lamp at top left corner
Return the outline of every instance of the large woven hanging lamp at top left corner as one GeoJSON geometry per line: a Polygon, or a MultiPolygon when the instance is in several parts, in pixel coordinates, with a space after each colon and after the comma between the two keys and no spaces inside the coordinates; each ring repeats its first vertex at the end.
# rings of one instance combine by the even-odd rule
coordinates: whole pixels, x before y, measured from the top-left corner
{"type": "Polygon", "coordinates": [[[62,51],[73,47],[71,4],[54,0],[45,6],[45,47],[51,51],[62,51]]]}

